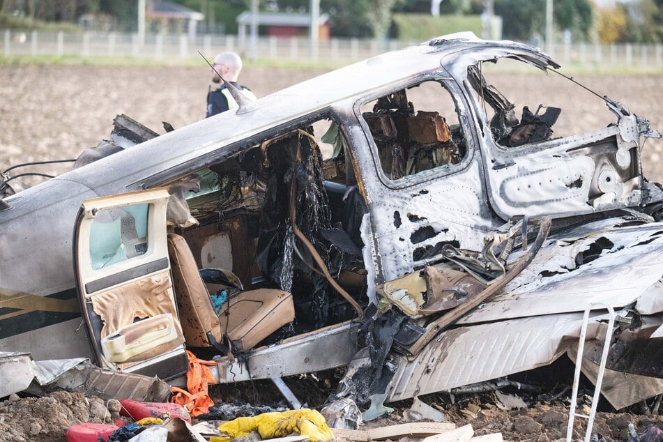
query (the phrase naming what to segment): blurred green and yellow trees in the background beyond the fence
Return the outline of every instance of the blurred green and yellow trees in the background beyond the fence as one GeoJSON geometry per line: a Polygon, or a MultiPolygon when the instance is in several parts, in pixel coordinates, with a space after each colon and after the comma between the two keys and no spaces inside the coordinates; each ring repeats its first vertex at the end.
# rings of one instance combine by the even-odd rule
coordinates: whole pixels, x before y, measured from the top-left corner
{"type": "MultiPolygon", "coordinates": [[[[147,0],[152,1],[152,0],[147,0]]],[[[237,31],[236,17],[250,9],[251,0],[170,0],[205,15],[204,29],[237,31]]],[[[0,26],[22,23],[77,24],[84,15],[104,17],[114,31],[136,31],[137,0],[0,0],[0,26]],[[3,19],[4,17],[4,19],[3,19]]],[[[307,13],[309,0],[260,0],[270,12],[307,13]]],[[[504,38],[532,41],[544,34],[546,0],[493,0],[502,17],[504,38]]],[[[430,0],[320,0],[335,37],[397,38],[393,14],[430,14],[430,0]]],[[[444,0],[442,15],[480,15],[485,0],[444,0]]],[[[444,20],[442,16],[439,20],[444,20]]],[[[661,43],[663,0],[632,0],[600,6],[593,0],[554,0],[558,36],[598,43],[661,43]]]]}

